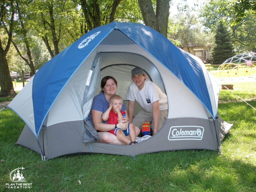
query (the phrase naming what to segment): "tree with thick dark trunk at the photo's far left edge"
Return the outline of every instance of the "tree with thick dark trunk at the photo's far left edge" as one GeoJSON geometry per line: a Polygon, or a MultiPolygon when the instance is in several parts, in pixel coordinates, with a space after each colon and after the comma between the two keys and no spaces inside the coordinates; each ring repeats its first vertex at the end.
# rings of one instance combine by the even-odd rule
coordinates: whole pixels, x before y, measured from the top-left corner
{"type": "MultiPolygon", "coordinates": [[[[1,39],[0,36],[0,97],[5,96],[15,96],[16,93],[13,89],[13,83],[12,79],[10,77],[9,67],[6,59],[6,54],[10,48],[11,40],[12,40],[12,34],[13,34],[13,25],[14,25],[14,14],[15,10],[13,7],[12,1],[5,1],[1,3],[1,9],[0,9],[0,26],[1,28],[5,29],[5,32],[8,35],[8,40],[6,42],[6,46],[4,48],[4,42],[2,42],[3,39],[1,39]],[[9,28],[7,28],[7,26],[9,28]]],[[[1,30],[1,34],[3,34],[4,31],[1,30]]]]}

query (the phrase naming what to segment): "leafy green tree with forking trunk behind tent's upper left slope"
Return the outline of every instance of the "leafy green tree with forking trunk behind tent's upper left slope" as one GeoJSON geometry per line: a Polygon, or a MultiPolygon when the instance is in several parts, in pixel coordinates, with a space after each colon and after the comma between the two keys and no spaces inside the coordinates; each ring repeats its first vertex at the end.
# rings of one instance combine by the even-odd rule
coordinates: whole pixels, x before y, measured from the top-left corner
{"type": "MultiPolygon", "coordinates": [[[[78,4],[70,0],[35,0],[28,4],[31,27],[44,41],[51,57],[78,39],[83,25],[78,4]]],[[[82,31],[83,32],[83,31],[82,31]]]]}

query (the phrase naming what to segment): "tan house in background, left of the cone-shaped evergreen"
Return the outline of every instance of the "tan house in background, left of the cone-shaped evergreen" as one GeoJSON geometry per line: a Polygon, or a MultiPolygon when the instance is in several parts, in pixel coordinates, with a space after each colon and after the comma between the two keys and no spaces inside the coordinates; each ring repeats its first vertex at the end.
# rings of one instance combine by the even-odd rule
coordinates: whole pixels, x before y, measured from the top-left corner
{"type": "Polygon", "coordinates": [[[202,46],[188,42],[188,46],[186,46],[184,43],[181,43],[181,45],[177,47],[191,53],[192,55],[199,57],[202,61],[204,61],[204,63],[210,63],[211,61],[210,46],[202,46]]]}

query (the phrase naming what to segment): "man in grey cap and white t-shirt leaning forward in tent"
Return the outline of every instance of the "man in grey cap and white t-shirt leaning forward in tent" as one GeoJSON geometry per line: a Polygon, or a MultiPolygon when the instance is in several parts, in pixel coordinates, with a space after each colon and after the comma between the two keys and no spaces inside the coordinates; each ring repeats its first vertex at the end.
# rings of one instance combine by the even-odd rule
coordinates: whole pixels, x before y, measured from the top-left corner
{"type": "Polygon", "coordinates": [[[151,127],[155,134],[167,119],[167,96],[155,83],[146,79],[145,72],[140,67],[132,70],[132,80],[126,95],[129,100],[128,117],[138,127],[142,127],[144,121],[151,122],[153,120],[151,127]],[[133,118],[135,101],[140,104],[142,110],[133,118]]]}

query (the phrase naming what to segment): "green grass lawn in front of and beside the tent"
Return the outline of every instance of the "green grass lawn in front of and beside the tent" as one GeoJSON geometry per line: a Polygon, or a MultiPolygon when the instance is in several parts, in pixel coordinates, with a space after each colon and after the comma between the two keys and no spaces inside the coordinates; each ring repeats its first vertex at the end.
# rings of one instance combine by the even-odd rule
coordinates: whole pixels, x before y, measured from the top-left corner
{"type": "MultiPolygon", "coordinates": [[[[256,108],[256,85],[234,84],[234,92],[256,108]]],[[[12,110],[0,111],[0,191],[13,169],[24,167],[30,189],[16,191],[256,191],[256,111],[220,91],[219,116],[232,123],[222,153],[209,150],[165,151],[130,156],[87,154],[42,161],[15,145],[24,122],[12,110]]],[[[148,146],[150,147],[150,146],[148,146]]]]}

